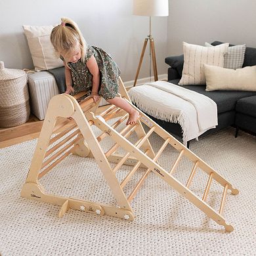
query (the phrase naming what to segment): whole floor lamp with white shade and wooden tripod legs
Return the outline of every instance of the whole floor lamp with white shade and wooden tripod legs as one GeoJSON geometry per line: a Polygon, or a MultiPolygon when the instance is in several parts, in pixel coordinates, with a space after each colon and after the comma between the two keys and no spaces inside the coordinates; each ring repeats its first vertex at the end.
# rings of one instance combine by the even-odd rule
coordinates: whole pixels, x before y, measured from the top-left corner
{"type": "Polygon", "coordinates": [[[139,16],[149,16],[150,18],[150,28],[149,35],[144,40],[144,45],[142,48],[142,52],[140,54],[139,66],[137,68],[137,73],[135,76],[135,81],[133,86],[136,85],[137,79],[140,72],[140,67],[142,64],[142,60],[144,57],[144,53],[146,51],[146,45],[148,44],[148,40],[150,41],[150,68],[151,68],[151,57],[152,64],[154,70],[154,79],[158,80],[158,69],[156,66],[156,51],[154,46],[154,38],[152,37],[151,31],[151,16],[168,16],[169,15],[169,5],[168,0],[133,0],[133,14],[139,16]]]}

